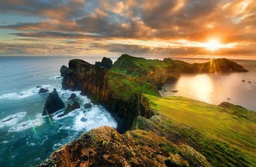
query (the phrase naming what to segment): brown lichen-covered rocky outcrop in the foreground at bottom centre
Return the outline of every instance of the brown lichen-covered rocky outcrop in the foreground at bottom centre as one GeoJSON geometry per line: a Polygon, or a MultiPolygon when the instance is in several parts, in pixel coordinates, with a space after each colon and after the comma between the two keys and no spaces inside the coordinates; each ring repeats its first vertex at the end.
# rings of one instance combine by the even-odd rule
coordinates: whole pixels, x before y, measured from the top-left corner
{"type": "Polygon", "coordinates": [[[175,145],[152,132],[119,134],[99,127],[53,152],[40,166],[211,166],[188,145],[175,145]],[[195,164],[197,163],[197,164],[195,164]]]}

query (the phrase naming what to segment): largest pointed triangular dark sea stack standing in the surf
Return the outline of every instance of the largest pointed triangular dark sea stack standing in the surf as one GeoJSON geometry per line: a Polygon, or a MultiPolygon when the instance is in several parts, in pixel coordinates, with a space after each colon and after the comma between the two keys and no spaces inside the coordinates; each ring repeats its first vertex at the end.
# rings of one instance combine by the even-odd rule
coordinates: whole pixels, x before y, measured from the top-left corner
{"type": "Polygon", "coordinates": [[[63,108],[65,108],[65,104],[62,102],[61,98],[59,97],[59,94],[57,93],[56,88],[54,88],[52,93],[50,93],[47,97],[42,115],[46,116],[47,113],[52,114],[63,108]]]}

